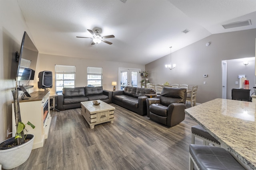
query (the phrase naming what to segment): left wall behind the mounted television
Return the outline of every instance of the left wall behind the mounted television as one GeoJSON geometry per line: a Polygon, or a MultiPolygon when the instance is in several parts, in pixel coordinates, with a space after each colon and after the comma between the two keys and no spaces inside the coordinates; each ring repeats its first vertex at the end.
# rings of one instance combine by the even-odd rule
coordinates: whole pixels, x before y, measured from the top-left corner
{"type": "MultiPolygon", "coordinates": [[[[12,131],[12,92],[15,88],[16,61],[24,31],[30,31],[16,0],[0,0],[0,141],[12,131]]],[[[30,36],[31,37],[31,36],[30,36]]],[[[11,137],[11,135],[9,135],[11,137]]]]}

